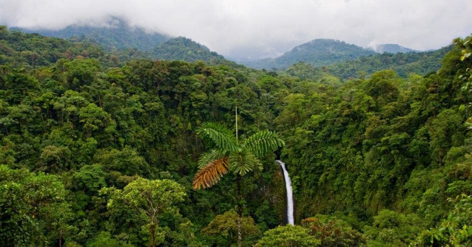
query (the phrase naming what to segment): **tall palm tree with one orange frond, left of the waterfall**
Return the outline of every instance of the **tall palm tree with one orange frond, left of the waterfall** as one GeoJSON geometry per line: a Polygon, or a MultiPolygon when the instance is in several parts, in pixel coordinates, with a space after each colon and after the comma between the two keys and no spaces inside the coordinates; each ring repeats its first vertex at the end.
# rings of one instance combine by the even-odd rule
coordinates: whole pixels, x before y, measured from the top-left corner
{"type": "Polygon", "coordinates": [[[238,191],[238,246],[241,246],[243,202],[241,178],[253,172],[259,175],[263,166],[258,158],[285,145],[279,135],[270,131],[258,132],[243,142],[238,142],[238,122],[236,136],[223,125],[206,122],[197,130],[197,135],[210,147],[199,161],[199,170],[193,179],[193,189],[205,189],[216,184],[221,177],[231,171],[236,175],[238,191]]]}

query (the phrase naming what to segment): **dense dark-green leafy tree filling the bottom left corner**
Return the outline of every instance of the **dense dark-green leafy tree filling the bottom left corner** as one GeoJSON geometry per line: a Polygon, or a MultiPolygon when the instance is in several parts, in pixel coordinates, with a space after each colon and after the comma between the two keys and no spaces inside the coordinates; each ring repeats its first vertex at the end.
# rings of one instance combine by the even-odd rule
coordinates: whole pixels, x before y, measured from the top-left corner
{"type": "Polygon", "coordinates": [[[0,166],[0,245],[51,244],[76,227],[57,176],[0,166]]]}

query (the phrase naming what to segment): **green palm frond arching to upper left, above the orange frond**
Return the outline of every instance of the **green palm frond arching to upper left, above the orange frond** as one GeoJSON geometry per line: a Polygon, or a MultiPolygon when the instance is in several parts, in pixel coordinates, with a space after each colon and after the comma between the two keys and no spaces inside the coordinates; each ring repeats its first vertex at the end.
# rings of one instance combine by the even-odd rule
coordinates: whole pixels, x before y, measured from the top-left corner
{"type": "Polygon", "coordinates": [[[216,122],[205,122],[197,129],[197,135],[210,147],[223,151],[238,151],[234,134],[216,122]]]}

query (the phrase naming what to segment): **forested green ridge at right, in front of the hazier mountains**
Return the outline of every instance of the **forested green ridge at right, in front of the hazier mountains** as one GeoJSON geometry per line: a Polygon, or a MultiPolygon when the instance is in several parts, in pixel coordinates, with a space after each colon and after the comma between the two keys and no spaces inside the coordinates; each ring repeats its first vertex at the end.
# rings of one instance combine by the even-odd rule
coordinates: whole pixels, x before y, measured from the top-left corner
{"type": "Polygon", "coordinates": [[[428,52],[383,53],[331,64],[324,70],[346,79],[357,78],[360,73],[370,75],[383,69],[393,69],[402,77],[407,77],[410,73],[425,75],[438,70],[444,55],[451,49],[452,46],[446,46],[428,52]]]}

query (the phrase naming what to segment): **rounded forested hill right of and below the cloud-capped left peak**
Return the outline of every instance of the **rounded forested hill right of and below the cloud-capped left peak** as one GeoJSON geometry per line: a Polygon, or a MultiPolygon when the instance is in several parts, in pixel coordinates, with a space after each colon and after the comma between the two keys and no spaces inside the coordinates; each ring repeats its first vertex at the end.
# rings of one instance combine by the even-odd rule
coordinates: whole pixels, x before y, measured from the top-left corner
{"type": "Polygon", "coordinates": [[[185,37],[173,38],[156,46],[151,52],[151,57],[158,60],[184,60],[187,62],[202,60],[212,64],[227,61],[223,56],[210,51],[206,46],[185,37]]]}

